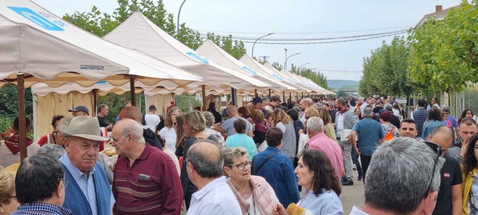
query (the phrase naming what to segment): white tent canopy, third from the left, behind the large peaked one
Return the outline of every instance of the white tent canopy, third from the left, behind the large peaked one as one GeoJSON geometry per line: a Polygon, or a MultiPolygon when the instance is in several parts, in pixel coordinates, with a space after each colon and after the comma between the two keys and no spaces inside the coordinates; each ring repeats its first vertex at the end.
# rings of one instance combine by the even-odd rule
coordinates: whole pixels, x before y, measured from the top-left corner
{"type": "MultiPolygon", "coordinates": [[[[216,44],[214,44],[211,40],[206,40],[204,43],[196,49],[196,51],[207,58],[214,60],[219,65],[227,67],[229,69],[237,70],[242,72],[242,76],[250,76],[254,77],[260,81],[263,81],[269,85],[272,85],[272,89],[277,91],[283,90],[297,90],[294,87],[291,87],[285,83],[281,83],[277,81],[275,78],[269,77],[268,74],[265,74],[261,71],[255,71],[254,69],[247,67],[241,61],[237,60],[216,44]]],[[[259,90],[259,89],[258,89],[259,90]]],[[[265,89],[262,89],[265,90],[265,89]]]]}

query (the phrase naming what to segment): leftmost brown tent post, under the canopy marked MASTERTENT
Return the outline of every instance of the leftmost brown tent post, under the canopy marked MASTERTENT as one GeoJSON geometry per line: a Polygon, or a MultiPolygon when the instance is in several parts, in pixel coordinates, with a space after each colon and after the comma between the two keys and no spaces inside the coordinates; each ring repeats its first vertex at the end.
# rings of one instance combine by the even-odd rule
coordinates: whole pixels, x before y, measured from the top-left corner
{"type": "Polygon", "coordinates": [[[25,115],[25,82],[24,73],[18,73],[17,87],[18,87],[18,122],[19,122],[19,136],[20,136],[20,162],[27,157],[27,123],[25,115]]]}

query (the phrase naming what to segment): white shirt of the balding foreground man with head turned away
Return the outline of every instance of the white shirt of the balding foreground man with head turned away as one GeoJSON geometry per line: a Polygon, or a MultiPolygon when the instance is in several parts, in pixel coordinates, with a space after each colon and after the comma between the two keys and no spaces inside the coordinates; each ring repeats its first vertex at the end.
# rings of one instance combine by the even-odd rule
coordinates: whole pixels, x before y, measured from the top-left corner
{"type": "Polygon", "coordinates": [[[193,214],[242,215],[242,211],[226,178],[221,176],[193,194],[188,215],[193,214]]]}

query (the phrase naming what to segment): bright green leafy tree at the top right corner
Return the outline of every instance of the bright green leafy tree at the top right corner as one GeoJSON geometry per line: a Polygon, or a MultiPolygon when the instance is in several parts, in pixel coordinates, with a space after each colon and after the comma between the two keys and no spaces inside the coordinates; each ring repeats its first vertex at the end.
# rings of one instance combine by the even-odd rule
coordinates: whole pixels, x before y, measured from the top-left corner
{"type": "Polygon", "coordinates": [[[410,30],[408,74],[432,92],[460,92],[478,81],[478,1],[463,1],[444,20],[410,30]]]}

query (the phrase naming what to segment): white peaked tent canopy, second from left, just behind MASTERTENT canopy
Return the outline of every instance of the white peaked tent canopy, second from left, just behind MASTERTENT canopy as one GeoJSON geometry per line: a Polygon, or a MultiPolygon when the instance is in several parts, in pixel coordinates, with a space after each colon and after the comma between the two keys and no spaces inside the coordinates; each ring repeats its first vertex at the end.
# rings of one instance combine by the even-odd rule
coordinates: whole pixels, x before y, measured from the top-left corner
{"type": "Polygon", "coordinates": [[[202,84],[205,85],[205,90],[214,89],[218,92],[224,92],[230,87],[248,91],[270,87],[270,84],[257,80],[252,75],[244,75],[240,71],[223,67],[200,56],[139,12],[133,13],[103,38],[117,45],[139,50],[203,77],[201,83],[186,85],[190,90],[184,91],[185,93],[200,90],[202,84]]]}

